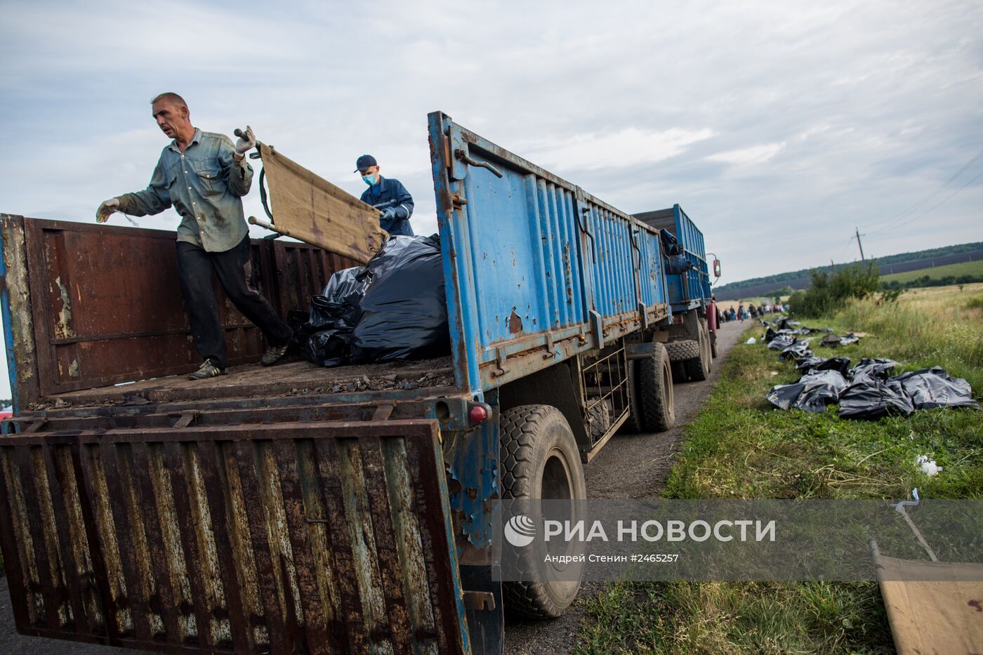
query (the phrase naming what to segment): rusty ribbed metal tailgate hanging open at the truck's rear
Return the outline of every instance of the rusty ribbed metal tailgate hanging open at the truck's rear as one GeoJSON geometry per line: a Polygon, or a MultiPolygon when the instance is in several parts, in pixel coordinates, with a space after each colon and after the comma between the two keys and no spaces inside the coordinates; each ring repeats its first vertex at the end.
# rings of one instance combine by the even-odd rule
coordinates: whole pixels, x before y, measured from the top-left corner
{"type": "Polygon", "coordinates": [[[433,420],[0,437],[18,631],[167,652],[469,652],[433,420]]]}

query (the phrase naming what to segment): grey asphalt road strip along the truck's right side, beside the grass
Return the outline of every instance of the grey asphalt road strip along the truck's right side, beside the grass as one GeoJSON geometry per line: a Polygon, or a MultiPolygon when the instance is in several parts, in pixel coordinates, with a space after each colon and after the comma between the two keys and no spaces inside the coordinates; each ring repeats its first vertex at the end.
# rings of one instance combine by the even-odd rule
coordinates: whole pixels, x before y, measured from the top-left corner
{"type": "MultiPolygon", "coordinates": [[[[616,435],[601,454],[584,466],[587,498],[653,498],[665,489],[665,480],[675,461],[683,427],[703,406],[703,401],[720,377],[721,364],[737,343],[748,323],[727,323],[717,335],[720,356],[714,360],[710,377],[700,383],[673,386],[675,427],[652,435],[616,435]]],[[[569,653],[577,643],[583,601],[605,588],[604,582],[585,582],[573,606],[553,621],[505,620],[505,653],[508,655],[569,653]]]]}

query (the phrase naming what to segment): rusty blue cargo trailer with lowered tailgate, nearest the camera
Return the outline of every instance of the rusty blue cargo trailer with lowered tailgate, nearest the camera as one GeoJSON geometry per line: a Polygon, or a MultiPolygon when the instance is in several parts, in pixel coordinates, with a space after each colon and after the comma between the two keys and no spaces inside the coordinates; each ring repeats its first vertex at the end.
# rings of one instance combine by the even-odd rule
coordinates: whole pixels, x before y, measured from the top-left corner
{"type": "MultiPolygon", "coordinates": [[[[443,113],[429,139],[450,343],[426,361],[263,369],[223,302],[241,366],[188,381],[173,232],[0,215],[0,547],[21,633],[497,653],[504,609],[569,606],[577,582],[496,581],[496,501],[584,498],[615,432],[672,426],[663,235],[443,113]]],[[[281,313],[349,266],[253,242],[281,313]]]]}

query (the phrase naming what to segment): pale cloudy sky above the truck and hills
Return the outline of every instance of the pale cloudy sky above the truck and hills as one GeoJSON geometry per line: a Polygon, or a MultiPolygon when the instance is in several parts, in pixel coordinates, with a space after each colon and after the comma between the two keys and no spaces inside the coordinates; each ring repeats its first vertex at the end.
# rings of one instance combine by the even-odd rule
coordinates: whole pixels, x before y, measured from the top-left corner
{"type": "Polygon", "coordinates": [[[722,282],[854,259],[854,227],[873,256],[983,239],[983,3],[818,4],[0,2],[0,211],[143,188],[174,90],[354,194],[375,154],[417,233],[440,109],[614,207],[679,203],[722,282]]]}

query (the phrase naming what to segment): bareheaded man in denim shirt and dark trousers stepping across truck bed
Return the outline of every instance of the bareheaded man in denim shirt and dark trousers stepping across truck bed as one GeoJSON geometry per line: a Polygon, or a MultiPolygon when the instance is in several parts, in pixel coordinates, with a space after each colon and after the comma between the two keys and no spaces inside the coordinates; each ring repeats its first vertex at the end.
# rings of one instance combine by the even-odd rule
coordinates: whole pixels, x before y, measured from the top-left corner
{"type": "Polygon", "coordinates": [[[247,127],[233,146],[225,135],[193,126],[188,105],[177,93],[161,93],[153,98],[152,107],[157,126],[173,141],[160,153],[146,189],[110,198],[99,206],[95,220],[104,223],[114,211],[145,216],[171,206],[181,214],[178,275],[195,347],[204,359],[191,374],[192,380],[223,375],[228,365],[225,330],[211,286],[213,274],[229,300],[265,335],[269,348],[260,363],[274,364],[287,354],[293,330],[251,280],[252,252],[242,197],[253,181],[253,167],[246,161],[246,152],[256,146],[253,130],[247,127]]]}

